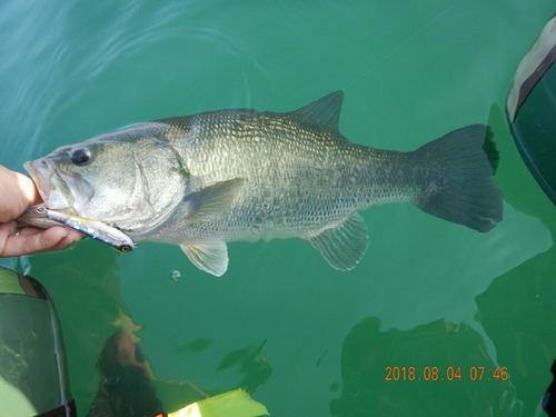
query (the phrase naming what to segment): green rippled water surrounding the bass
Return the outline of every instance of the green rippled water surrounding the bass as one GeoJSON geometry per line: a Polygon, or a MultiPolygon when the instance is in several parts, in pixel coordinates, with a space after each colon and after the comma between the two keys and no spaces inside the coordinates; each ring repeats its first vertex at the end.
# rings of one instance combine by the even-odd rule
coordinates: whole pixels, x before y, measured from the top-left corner
{"type": "Polygon", "coordinates": [[[298,239],[231,244],[221,278],[153,244],[0,260],[53,298],[80,415],[120,329],[140,339],[169,410],[240,386],[272,416],[535,415],[556,358],[556,209],[504,102],[553,12],[547,0],[2,1],[0,163],[12,169],[139,121],[288,111],[337,89],[354,142],[413,150],[480,122],[500,151],[493,231],[371,208],[349,272],[298,239]],[[387,367],[406,378],[386,380],[387,367]]]}

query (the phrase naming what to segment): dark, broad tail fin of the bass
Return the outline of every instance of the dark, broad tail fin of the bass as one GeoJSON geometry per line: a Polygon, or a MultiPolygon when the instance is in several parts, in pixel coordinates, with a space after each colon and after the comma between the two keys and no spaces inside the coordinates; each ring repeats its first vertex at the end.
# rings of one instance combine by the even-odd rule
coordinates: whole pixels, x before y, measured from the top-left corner
{"type": "Polygon", "coordinates": [[[421,210],[485,232],[502,221],[502,193],[494,180],[498,151],[487,126],[454,130],[415,151],[429,161],[421,210]]]}

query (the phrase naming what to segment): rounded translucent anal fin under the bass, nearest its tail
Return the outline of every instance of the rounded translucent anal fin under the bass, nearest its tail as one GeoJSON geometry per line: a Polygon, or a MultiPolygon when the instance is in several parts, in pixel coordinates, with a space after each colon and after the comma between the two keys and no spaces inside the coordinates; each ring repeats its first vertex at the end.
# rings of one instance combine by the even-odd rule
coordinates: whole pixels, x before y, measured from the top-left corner
{"type": "Polygon", "coordinates": [[[341,225],[308,239],[336,269],[349,270],[361,260],[369,246],[369,232],[361,216],[354,212],[341,225]]]}

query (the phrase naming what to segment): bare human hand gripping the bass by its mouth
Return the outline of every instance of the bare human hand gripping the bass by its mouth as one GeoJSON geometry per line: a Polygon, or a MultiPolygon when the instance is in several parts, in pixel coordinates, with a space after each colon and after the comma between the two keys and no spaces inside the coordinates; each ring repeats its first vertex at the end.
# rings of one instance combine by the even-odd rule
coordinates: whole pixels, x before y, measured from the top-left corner
{"type": "Polygon", "coordinates": [[[42,199],[30,178],[0,165],[0,257],[61,250],[82,238],[79,231],[62,226],[20,229],[14,219],[29,206],[40,202],[42,199]]]}

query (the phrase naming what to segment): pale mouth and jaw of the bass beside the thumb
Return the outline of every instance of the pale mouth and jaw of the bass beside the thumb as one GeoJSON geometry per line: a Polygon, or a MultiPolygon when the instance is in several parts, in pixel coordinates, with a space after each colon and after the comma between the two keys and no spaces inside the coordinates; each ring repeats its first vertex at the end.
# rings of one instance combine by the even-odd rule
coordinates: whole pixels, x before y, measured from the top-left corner
{"type": "Polygon", "coordinates": [[[53,163],[50,163],[46,158],[41,158],[23,163],[23,168],[37,185],[39,193],[48,208],[64,210],[66,212],[75,211],[72,208],[75,198],[71,188],[58,173],[53,163]]]}

